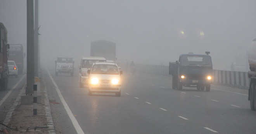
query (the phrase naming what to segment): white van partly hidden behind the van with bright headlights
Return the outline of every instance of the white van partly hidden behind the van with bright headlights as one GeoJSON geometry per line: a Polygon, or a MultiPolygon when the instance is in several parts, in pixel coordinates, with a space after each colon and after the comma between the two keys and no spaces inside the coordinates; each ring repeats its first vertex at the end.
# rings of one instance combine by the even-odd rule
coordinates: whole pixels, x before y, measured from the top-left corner
{"type": "Polygon", "coordinates": [[[94,62],[106,62],[104,57],[83,57],[81,59],[79,67],[79,79],[78,83],[80,87],[84,87],[88,83],[88,74],[89,70],[94,62]]]}

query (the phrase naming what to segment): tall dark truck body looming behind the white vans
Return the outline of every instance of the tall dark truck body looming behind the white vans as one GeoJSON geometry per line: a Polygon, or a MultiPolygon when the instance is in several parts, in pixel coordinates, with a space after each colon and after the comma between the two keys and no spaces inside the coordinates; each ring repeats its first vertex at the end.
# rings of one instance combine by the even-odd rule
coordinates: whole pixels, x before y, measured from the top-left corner
{"type": "Polygon", "coordinates": [[[107,60],[116,61],[116,44],[107,40],[93,41],[90,56],[105,57],[107,60]]]}

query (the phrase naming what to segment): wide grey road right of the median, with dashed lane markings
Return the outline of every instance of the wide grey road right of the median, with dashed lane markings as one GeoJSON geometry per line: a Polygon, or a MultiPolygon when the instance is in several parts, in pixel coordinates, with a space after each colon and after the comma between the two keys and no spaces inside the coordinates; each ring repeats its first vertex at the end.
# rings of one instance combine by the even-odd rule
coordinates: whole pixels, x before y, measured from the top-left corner
{"type": "Polygon", "coordinates": [[[57,133],[74,134],[80,128],[86,134],[255,133],[256,112],[249,110],[248,96],[225,92],[225,87],[180,91],[171,89],[170,77],[124,74],[121,97],[88,96],[78,87],[77,73],[55,77],[53,67],[48,69],[54,82],[46,70],[43,77],[57,133]]]}

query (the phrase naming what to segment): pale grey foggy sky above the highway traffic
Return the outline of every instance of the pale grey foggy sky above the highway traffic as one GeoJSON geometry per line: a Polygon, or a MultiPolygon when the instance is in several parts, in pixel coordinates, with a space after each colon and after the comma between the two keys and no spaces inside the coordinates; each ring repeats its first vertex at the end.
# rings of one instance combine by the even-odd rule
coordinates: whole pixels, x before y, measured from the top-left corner
{"type": "MultiPolygon", "coordinates": [[[[40,0],[42,57],[79,61],[90,55],[91,41],[106,39],[117,44],[118,59],[168,64],[182,53],[209,50],[214,69],[228,70],[256,37],[255,5],[255,0],[40,0]]],[[[26,0],[0,0],[0,22],[10,44],[26,44],[26,0]]]]}

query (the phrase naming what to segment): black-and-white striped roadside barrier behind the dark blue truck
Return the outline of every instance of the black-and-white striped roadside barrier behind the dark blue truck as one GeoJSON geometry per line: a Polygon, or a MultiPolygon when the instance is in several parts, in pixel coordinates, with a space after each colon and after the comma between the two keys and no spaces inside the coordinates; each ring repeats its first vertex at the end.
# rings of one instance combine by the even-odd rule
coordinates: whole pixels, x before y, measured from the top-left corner
{"type": "MultiPolygon", "coordinates": [[[[166,65],[136,65],[138,72],[157,75],[169,75],[166,65]]],[[[213,84],[249,89],[250,79],[247,72],[213,70],[213,84]]]]}

